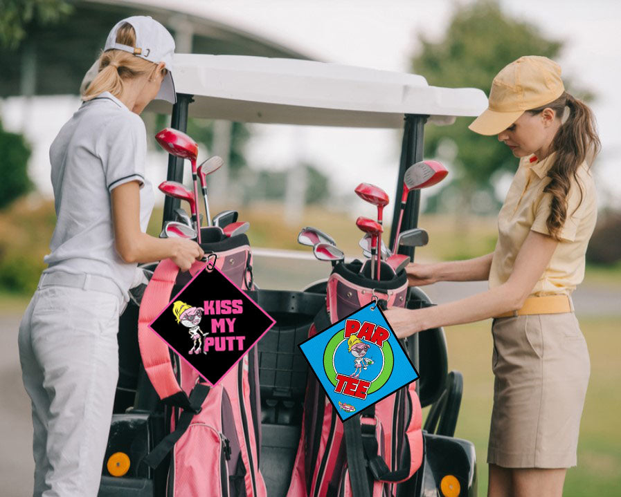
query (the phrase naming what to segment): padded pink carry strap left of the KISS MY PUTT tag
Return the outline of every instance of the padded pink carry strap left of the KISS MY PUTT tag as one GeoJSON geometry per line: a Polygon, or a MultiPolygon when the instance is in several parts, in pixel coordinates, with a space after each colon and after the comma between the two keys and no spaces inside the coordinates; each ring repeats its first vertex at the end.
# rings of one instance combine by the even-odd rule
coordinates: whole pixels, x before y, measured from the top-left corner
{"type": "MultiPolygon", "coordinates": [[[[190,274],[197,274],[205,265],[196,261],[190,268],[190,274]]],[[[147,376],[161,400],[165,404],[192,411],[190,399],[174,374],[168,345],[149,328],[150,323],[170,301],[177,274],[179,267],[170,259],[164,259],[155,268],[138,315],[138,346],[147,376]]]]}

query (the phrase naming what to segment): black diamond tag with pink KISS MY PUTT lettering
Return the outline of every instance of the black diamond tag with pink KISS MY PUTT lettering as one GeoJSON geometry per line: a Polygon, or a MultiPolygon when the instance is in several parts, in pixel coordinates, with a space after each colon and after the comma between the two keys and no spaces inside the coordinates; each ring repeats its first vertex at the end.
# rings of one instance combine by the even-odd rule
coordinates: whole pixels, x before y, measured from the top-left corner
{"type": "Polygon", "coordinates": [[[222,272],[205,268],[150,327],[215,385],[275,322],[222,272]]]}

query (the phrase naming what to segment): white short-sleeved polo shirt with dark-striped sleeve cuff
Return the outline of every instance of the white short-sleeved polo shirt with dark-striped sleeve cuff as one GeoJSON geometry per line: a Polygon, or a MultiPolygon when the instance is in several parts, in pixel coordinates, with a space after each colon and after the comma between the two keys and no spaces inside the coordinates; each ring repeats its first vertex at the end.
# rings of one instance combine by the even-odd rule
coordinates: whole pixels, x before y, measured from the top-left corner
{"type": "Polygon", "coordinates": [[[57,221],[44,273],[105,276],[129,299],[136,264],[123,262],[114,248],[110,192],[129,181],[141,183],[145,232],[154,203],[146,151],[143,120],[109,92],[84,102],[62,126],[50,147],[57,221]]]}

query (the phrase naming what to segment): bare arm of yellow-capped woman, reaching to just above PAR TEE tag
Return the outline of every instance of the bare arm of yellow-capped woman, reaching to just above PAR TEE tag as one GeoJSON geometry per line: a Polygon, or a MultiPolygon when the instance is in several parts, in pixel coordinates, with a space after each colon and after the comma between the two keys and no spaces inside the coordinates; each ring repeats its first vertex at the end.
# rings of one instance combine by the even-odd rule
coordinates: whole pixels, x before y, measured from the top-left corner
{"type": "Polygon", "coordinates": [[[518,252],[506,283],[439,306],[420,310],[390,308],[385,312],[386,319],[401,338],[438,326],[480,321],[519,309],[548,267],[557,245],[558,242],[550,236],[531,231],[518,252]]]}

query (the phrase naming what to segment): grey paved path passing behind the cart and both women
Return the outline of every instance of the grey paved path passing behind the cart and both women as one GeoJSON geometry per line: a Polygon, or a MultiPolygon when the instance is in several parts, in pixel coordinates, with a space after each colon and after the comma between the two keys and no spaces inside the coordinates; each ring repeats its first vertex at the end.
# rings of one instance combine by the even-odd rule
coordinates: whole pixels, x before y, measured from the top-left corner
{"type": "MultiPolygon", "coordinates": [[[[261,288],[300,290],[307,283],[325,278],[330,263],[314,259],[283,261],[255,257],[255,280],[261,288]]],[[[443,303],[485,291],[487,283],[436,283],[423,287],[432,301],[443,303]]],[[[583,286],[574,294],[577,315],[613,315],[621,322],[621,293],[583,286]]],[[[17,328],[22,309],[0,319],[0,482],[2,497],[32,494],[33,428],[30,400],[21,383],[17,355],[17,328]]]]}

